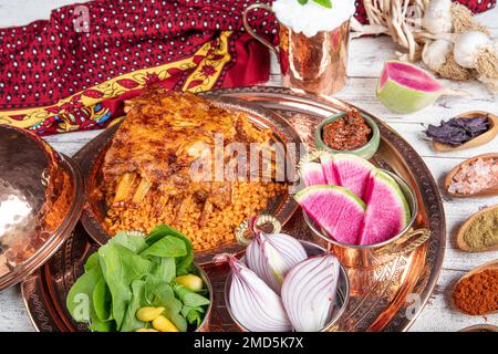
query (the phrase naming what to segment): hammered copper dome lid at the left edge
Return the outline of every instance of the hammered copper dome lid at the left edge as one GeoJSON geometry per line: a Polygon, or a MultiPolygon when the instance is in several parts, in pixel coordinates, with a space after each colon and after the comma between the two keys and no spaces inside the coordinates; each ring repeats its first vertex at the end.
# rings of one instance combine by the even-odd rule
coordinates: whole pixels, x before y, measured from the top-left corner
{"type": "Polygon", "coordinates": [[[0,125],[0,290],[58,250],[82,201],[82,179],[70,158],[28,131],[0,125]]]}

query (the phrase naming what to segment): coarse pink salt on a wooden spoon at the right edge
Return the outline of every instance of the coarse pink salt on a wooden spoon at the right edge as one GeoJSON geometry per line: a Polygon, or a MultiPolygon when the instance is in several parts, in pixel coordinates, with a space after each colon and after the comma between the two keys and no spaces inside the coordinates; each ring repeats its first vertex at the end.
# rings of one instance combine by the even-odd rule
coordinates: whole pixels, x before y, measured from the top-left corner
{"type": "Polygon", "coordinates": [[[478,158],[464,164],[453,177],[449,192],[473,195],[498,186],[498,158],[478,158]]]}

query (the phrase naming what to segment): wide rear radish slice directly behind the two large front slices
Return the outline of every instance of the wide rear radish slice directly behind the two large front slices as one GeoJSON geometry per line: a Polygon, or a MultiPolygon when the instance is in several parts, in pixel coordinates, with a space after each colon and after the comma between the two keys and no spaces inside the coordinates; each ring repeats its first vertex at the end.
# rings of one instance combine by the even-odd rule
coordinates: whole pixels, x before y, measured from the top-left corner
{"type": "Polygon", "coordinates": [[[369,176],[373,170],[376,170],[375,166],[356,155],[335,154],[333,156],[333,169],[339,186],[347,188],[365,200],[369,176]]]}

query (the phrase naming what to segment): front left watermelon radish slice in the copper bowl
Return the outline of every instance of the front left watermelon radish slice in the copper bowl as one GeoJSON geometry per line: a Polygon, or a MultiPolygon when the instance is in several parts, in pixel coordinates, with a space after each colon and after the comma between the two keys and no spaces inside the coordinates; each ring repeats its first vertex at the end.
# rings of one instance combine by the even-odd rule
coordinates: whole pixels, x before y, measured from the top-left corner
{"type": "Polygon", "coordinates": [[[359,244],[365,204],[339,186],[311,186],[294,196],[304,211],[336,241],[359,244]]]}

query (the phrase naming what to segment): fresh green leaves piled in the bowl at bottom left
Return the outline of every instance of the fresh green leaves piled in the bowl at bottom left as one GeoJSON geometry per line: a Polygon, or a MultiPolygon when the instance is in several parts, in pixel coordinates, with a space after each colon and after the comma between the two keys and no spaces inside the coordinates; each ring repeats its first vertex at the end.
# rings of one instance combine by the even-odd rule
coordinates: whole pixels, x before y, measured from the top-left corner
{"type": "Polygon", "coordinates": [[[68,310],[92,331],[131,332],[145,325],[136,319],[141,308],[162,306],[179,331],[195,330],[209,305],[207,289],[194,292],[175,282],[198,273],[193,261],[190,241],[167,225],[147,237],[121,231],[89,257],[68,294],[68,310]]]}

